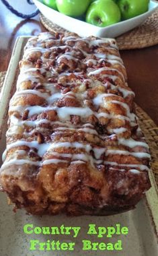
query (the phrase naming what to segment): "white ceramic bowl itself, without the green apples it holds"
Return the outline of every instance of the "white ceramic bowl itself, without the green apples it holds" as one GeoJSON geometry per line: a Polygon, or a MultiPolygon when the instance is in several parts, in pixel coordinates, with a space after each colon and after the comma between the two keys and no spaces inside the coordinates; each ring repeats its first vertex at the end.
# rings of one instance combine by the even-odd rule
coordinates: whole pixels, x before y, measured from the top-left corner
{"type": "Polygon", "coordinates": [[[86,22],[82,22],[81,20],[77,20],[75,18],[71,18],[63,13],[58,11],[54,11],[50,7],[44,5],[38,0],[33,0],[40,12],[48,18],[51,22],[54,22],[58,26],[65,28],[71,32],[75,32],[79,34],[79,36],[99,36],[99,37],[116,37],[120,36],[132,28],[139,26],[142,24],[150,15],[155,11],[158,7],[158,3],[155,1],[150,1],[149,3],[149,11],[143,13],[139,16],[136,16],[130,20],[125,20],[123,22],[118,22],[114,25],[107,26],[105,28],[100,28],[86,22]]]}

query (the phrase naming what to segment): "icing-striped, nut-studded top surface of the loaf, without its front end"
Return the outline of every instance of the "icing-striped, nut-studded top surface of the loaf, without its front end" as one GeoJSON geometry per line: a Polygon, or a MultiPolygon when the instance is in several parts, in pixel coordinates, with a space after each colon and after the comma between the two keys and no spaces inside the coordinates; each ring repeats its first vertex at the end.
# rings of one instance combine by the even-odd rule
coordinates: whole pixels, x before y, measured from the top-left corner
{"type": "Polygon", "coordinates": [[[150,155],[138,136],[133,97],[115,40],[52,40],[49,33],[28,40],[9,106],[1,170],[10,164],[90,164],[94,170],[104,164],[140,174],[150,155]],[[134,163],[122,162],[122,156],[134,163]]]}

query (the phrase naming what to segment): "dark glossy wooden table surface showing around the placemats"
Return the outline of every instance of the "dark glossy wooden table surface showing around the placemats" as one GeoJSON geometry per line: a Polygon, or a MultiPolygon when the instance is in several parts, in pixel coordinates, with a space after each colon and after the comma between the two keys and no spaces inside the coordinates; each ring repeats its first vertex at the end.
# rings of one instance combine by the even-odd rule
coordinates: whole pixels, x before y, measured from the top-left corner
{"type": "MultiPolygon", "coordinates": [[[[35,7],[26,1],[13,1],[15,9],[31,13],[35,7]],[[20,2],[22,3],[20,5],[20,2]]],[[[0,1],[0,71],[6,71],[15,38],[21,35],[36,35],[46,29],[39,17],[22,20],[13,15],[0,1]]],[[[135,102],[147,112],[158,125],[158,45],[146,49],[121,51],[128,73],[128,84],[135,92],[135,102]]]]}

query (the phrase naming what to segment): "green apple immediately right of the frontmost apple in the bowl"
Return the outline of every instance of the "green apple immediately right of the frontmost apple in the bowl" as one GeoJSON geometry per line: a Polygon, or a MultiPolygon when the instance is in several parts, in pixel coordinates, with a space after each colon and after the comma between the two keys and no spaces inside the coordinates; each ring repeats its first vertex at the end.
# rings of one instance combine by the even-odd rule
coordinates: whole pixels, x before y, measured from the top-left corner
{"type": "Polygon", "coordinates": [[[149,0],[118,0],[122,20],[128,20],[148,11],[149,0]]]}

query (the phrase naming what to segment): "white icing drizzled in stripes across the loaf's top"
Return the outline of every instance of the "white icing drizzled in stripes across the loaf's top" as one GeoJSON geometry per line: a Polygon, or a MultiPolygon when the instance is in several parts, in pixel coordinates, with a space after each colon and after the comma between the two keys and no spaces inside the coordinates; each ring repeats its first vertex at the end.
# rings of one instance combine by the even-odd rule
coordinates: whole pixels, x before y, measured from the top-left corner
{"type": "MultiPolygon", "coordinates": [[[[48,35],[44,35],[44,36],[39,36],[39,42],[37,46],[32,46],[32,41],[29,40],[28,42],[28,49],[26,49],[25,53],[24,53],[24,59],[28,59],[28,57],[30,56],[31,53],[35,53],[35,52],[40,52],[40,53],[45,53],[45,52],[51,52],[52,50],[56,50],[58,48],[61,49],[66,49],[69,48],[71,50],[71,47],[69,46],[52,46],[48,49],[44,49],[42,47],[42,44],[40,45],[40,42],[42,42],[42,40],[52,40],[51,36],[48,35]]],[[[75,36],[68,36],[63,38],[63,41],[68,41],[68,40],[73,40],[73,41],[80,41],[82,40],[82,38],[76,38],[75,36]]],[[[56,40],[56,42],[58,41],[58,43],[60,42],[60,40],[56,40]]],[[[88,39],[85,39],[85,42],[87,44],[89,44],[89,46],[100,46],[100,44],[109,44],[110,46],[105,47],[104,49],[107,49],[108,52],[112,51],[113,54],[104,54],[104,53],[94,53],[95,57],[97,57],[97,60],[94,59],[88,59],[86,61],[86,63],[89,63],[90,61],[95,65],[97,62],[100,63],[102,60],[106,60],[109,63],[111,63],[112,65],[121,65],[122,68],[124,68],[124,65],[122,64],[122,60],[120,59],[120,57],[114,55],[114,53],[116,52],[117,46],[115,44],[114,40],[110,40],[110,39],[96,39],[96,40],[91,40],[89,41],[88,39]]],[[[27,48],[27,47],[26,47],[27,48]]],[[[83,55],[85,55],[85,57],[88,57],[89,54],[85,53],[85,51],[83,51],[83,49],[79,49],[83,55]]],[[[69,51],[67,53],[64,53],[63,55],[59,55],[58,58],[56,59],[56,62],[59,63],[63,58],[66,58],[67,60],[73,60],[76,62],[79,62],[79,59],[77,59],[75,56],[75,51],[69,51]]],[[[44,59],[44,57],[42,56],[41,59],[44,59]]],[[[91,77],[91,75],[98,75],[100,74],[102,71],[112,71],[112,73],[116,73],[117,75],[108,75],[108,74],[102,74],[102,77],[110,77],[111,79],[113,79],[114,81],[116,79],[122,79],[122,82],[124,82],[124,75],[122,75],[122,73],[115,68],[111,68],[111,67],[102,67],[99,69],[95,69],[93,71],[90,71],[87,75],[89,77],[91,77]],[[119,76],[120,75],[120,76],[119,76]]],[[[56,71],[54,69],[52,69],[51,71],[47,71],[46,69],[44,69],[43,67],[38,69],[38,68],[34,68],[31,65],[28,65],[27,68],[23,68],[21,69],[21,73],[19,75],[19,78],[17,80],[17,89],[19,84],[21,84],[24,81],[31,81],[31,82],[41,82],[40,79],[42,79],[42,74],[46,73],[47,77],[51,77],[51,75],[58,75],[56,73],[56,71]],[[37,73],[37,71],[39,71],[37,73]]],[[[74,73],[75,75],[78,75],[79,73],[74,73]]],[[[63,73],[63,75],[69,75],[68,73],[63,73]]],[[[92,83],[92,79],[89,78],[89,82],[92,83]]],[[[69,84],[73,84],[73,82],[70,82],[69,84]]],[[[110,83],[108,83],[105,86],[109,86],[110,83]]],[[[124,82],[124,85],[125,82],[124,82]]],[[[19,90],[15,93],[15,95],[13,96],[11,102],[13,102],[13,99],[15,98],[15,96],[21,96],[23,94],[34,94],[36,96],[40,96],[42,98],[44,98],[44,100],[46,100],[49,104],[54,103],[56,100],[58,100],[58,98],[86,98],[87,97],[87,93],[83,94],[83,96],[81,96],[81,94],[74,94],[73,92],[68,92],[67,94],[62,94],[59,90],[56,90],[56,88],[54,87],[54,84],[49,84],[49,83],[44,83],[43,84],[44,88],[45,88],[45,92],[40,92],[38,90],[19,90]],[[49,92],[51,92],[51,96],[49,96],[48,92],[46,91],[48,90],[49,92]]],[[[116,90],[116,86],[114,86],[113,84],[110,84],[111,89],[112,90],[116,90]]],[[[122,92],[122,95],[124,98],[126,98],[128,95],[130,94],[134,94],[132,91],[128,90],[128,88],[123,88],[121,86],[117,86],[117,90],[122,92]]],[[[104,101],[106,102],[106,98],[110,97],[110,96],[114,96],[116,97],[116,94],[99,94],[97,95],[95,98],[93,98],[93,104],[100,106],[102,104],[104,104],[104,101]]],[[[73,127],[73,125],[68,122],[70,121],[70,116],[71,115],[77,115],[83,119],[88,118],[91,115],[94,115],[95,117],[97,117],[98,119],[100,119],[100,117],[105,117],[108,119],[122,119],[124,121],[130,121],[130,125],[134,125],[136,123],[136,117],[133,113],[130,113],[130,109],[128,104],[124,103],[124,102],[120,102],[119,101],[119,97],[118,100],[111,100],[110,101],[113,104],[120,104],[120,106],[122,106],[125,110],[126,110],[126,116],[123,115],[114,115],[114,114],[108,114],[108,113],[96,113],[93,110],[91,110],[91,108],[89,107],[69,107],[69,106],[64,106],[61,108],[58,108],[57,106],[10,106],[9,111],[17,111],[19,112],[21,115],[24,113],[25,110],[29,110],[28,113],[28,117],[32,117],[32,115],[35,114],[40,114],[43,113],[44,111],[50,111],[50,110],[55,110],[57,115],[58,115],[58,119],[59,121],[54,121],[54,122],[50,122],[46,119],[42,119],[42,120],[35,120],[35,121],[22,121],[20,119],[17,119],[15,116],[11,116],[10,119],[10,123],[14,126],[14,127],[20,127],[22,125],[28,125],[30,127],[36,127],[38,125],[44,124],[44,123],[50,123],[50,125],[59,125],[59,127],[54,128],[54,131],[61,131],[61,133],[63,133],[63,131],[65,130],[75,130],[76,127],[73,127]],[[65,122],[65,123],[63,123],[65,122]],[[62,126],[60,126],[62,125],[62,126]]],[[[118,127],[118,128],[114,128],[114,129],[109,129],[108,131],[110,131],[111,133],[115,133],[120,134],[120,133],[124,133],[126,132],[126,128],[125,127],[118,127]]],[[[84,133],[89,133],[92,135],[97,135],[98,133],[97,131],[95,131],[93,125],[91,124],[85,124],[83,125],[83,127],[79,127],[78,131],[83,131],[84,133]]],[[[7,136],[11,136],[13,135],[14,130],[12,129],[12,127],[9,128],[9,131],[7,131],[7,136]]],[[[29,133],[28,133],[29,134],[29,133]]],[[[31,134],[31,132],[30,132],[31,134]]],[[[129,148],[134,148],[136,146],[141,146],[144,148],[148,148],[147,143],[143,142],[143,141],[135,141],[134,139],[130,138],[130,139],[122,139],[122,138],[118,138],[118,143],[129,147],[129,148]]],[[[9,166],[9,164],[34,164],[36,166],[42,166],[44,164],[58,164],[60,162],[63,162],[65,164],[69,163],[69,160],[63,160],[61,158],[71,158],[71,163],[72,164],[84,164],[85,162],[90,162],[92,166],[94,166],[93,164],[101,164],[103,162],[103,160],[101,160],[100,158],[102,158],[102,156],[105,154],[106,152],[106,156],[108,156],[108,154],[124,154],[124,155],[132,155],[138,158],[149,158],[149,154],[146,152],[128,152],[127,150],[107,150],[106,148],[101,148],[101,147],[97,147],[97,146],[91,146],[90,144],[86,143],[79,143],[77,141],[75,142],[51,142],[51,143],[42,143],[39,144],[37,141],[15,141],[13,143],[10,143],[7,145],[7,150],[11,149],[11,148],[15,148],[15,147],[19,147],[19,146],[28,146],[29,148],[36,148],[38,150],[38,155],[39,156],[44,156],[44,154],[46,154],[46,152],[48,152],[49,150],[51,151],[52,157],[56,156],[57,158],[52,158],[52,159],[48,159],[48,160],[44,160],[41,164],[41,162],[32,162],[30,160],[9,160],[8,162],[5,162],[3,164],[3,168],[9,166]],[[75,150],[79,150],[80,153],[74,153],[74,154],[63,154],[63,153],[58,153],[58,152],[54,152],[52,150],[58,149],[58,148],[74,148],[75,150]],[[90,155],[90,152],[93,151],[93,154],[95,156],[95,158],[93,158],[90,155]],[[83,153],[84,152],[84,153],[83,153]],[[60,159],[58,159],[60,158],[60,159]]],[[[7,153],[7,150],[5,151],[5,154],[7,153]]],[[[18,150],[18,154],[22,155],[25,154],[25,150],[18,150]],[[20,153],[22,152],[22,154],[20,153]]],[[[4,154],[4,156],[5,156],[4,154]]],[[[4,158],[4,157],[3,157],[4,158]]],[[[110,164],[110,165],[116,165],[116,166],[124,166],[124,167],[128,167],[128,168],[133,168],[130,170],[130,172],[134,173],[134,174],[139,174],[139,170],[134,169],[135,168],[139,168],[140,170],[147,170],[147,166],[143,165],[143,164],[117,164],[116,162],[107,162],[104,161],[104,164],[110,164]]],[[[120,169],[122,170],[122,169],[120,169]]]]}

